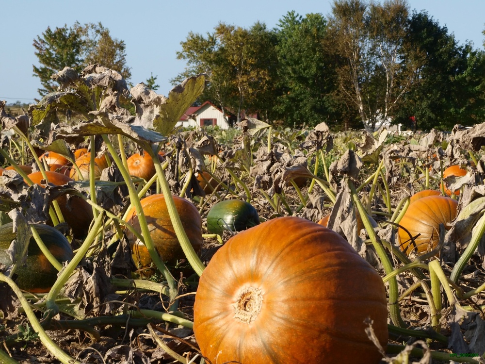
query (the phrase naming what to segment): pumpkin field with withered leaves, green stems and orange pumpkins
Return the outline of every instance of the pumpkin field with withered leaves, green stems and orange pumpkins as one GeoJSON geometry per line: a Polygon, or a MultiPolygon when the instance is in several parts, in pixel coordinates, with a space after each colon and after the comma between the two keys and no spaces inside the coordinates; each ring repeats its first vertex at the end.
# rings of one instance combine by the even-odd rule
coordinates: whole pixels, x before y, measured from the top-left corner
{"type": "Polygon", "coordinates": [[[0,102],[0,363],[485,361],[485,123],[182,130],[203,74],[52,78],[0,102]]]}

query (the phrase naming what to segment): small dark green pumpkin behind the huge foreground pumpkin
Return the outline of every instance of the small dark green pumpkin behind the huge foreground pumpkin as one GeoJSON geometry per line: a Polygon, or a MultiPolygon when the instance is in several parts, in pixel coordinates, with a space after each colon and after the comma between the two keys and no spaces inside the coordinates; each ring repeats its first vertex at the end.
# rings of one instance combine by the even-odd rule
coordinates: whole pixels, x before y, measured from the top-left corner
{"type": "Polygon", "coordinates": [[[222,234],[240,232],[259,224],[258,211],[249,202],[227,199],[217,202],[207,214],[207,231],[222,234]]]}

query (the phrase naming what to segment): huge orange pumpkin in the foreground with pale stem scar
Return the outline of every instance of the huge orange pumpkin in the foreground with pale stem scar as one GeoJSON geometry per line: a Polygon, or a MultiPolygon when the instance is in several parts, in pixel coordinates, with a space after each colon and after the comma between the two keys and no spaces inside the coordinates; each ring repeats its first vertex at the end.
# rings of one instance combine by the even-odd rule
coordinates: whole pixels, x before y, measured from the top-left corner
{"type": "Polygon", "coordinates": [[[368,316],[386,347],[386,290],[375,269],[336,232],[280,217],[240,232],[212,257],[195,295],[194,333],[212,364],[376,364],[368,316]],[[235,317],[244,289],[262,296],[249,324],[235,317]]]}

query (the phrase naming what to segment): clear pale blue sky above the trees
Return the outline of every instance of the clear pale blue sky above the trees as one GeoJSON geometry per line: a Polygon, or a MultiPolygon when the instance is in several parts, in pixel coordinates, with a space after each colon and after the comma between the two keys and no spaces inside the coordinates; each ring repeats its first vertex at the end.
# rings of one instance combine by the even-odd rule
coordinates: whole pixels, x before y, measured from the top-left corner
{"type": "MultiPolygon", "coordinates": [[[[182,72],[185,62],[177,60],[180,42],[190,31],[205,34],[223,21],[250,27],[256,21],[273,28],[288,11],[300,15],[331,13],[329,0],[181,0],[181,1],[2,1],[0,100],[33,102],[41,85],[32,76],[32,65],[38,65],[33,39],[52,29],[101,22],[112,37],[127,46],[127,64],[133,84],[144,82],[152,72],[160,85],[158,93],[167,95],[169,80],[182,72]],[[39,5],[42,4],[42,5],[39,5]],[[82,4],[76,8],[71,4],[82,4]]],[[[485,26],[484,0],[408,0],[410,9],[426,10],[441,26],[447,26],[460,44],[466,40],[483,48],[485,26]]]]}

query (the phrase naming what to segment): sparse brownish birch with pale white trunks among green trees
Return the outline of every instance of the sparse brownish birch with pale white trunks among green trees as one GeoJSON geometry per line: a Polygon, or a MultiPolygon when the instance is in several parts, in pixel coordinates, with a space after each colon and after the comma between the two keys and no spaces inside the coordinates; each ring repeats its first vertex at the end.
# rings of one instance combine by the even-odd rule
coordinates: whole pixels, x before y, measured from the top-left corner
{"type": "Polygon", "coordinates": [[[336,0],[326,45],[334,50],[338,98],[356,107],[368,131],[379,129],[397,109],[416,66],[403,56],[408,6],[336,0]]]}

